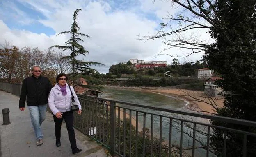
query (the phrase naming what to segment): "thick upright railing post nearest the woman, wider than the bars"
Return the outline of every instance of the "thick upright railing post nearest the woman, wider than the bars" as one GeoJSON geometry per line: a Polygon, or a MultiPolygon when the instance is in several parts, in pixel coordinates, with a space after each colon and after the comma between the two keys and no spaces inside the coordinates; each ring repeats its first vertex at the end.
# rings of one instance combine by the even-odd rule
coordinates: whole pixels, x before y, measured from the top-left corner
{"type": "Polygon", "coordinates": [[[115,102],[110,102],[110,153],[114,155],[116,150],[115,144],[115,131],[116,131],[116,111],[115,111],[115,102]]]}

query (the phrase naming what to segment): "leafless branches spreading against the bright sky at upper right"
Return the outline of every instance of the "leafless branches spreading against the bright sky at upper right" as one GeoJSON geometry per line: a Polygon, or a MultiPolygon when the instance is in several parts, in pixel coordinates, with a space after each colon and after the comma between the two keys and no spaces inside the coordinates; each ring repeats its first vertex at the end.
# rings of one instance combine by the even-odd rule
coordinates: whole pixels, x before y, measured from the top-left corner
{"type": "Polygon", "coordinates": [[[173,9],[181,11],[163,18],[168,22],[160,23],[160,29],[155,35],[139,36],[138,39],[144,41],[163,39],[162,42],[167,48],[160,51],[158,55],[189,57],[195,53],[205,52],[210,44],[209,41],[199,40],[199,31],[210,31],[212,26],[222,28],[218,23],[219,16],[215,2],[216,0],[171,0],[173,9]],[[174,56],[167,52],[172,48],[183,49],[189,53],[174,56]]]}

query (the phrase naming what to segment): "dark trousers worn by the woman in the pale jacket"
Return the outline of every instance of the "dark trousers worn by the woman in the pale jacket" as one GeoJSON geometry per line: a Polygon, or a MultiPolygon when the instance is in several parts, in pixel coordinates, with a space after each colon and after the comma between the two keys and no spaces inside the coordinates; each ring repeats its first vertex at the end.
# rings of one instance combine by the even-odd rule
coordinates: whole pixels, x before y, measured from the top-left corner
{"type": "Polygon", "coordinates": [[[69,133],[69,142],[71,144],[71,148],[75,149],[76,147],[76,140],[75,140],[75,131],[73,128],[74,124],[74,115],[73,111],[68,111],[68,112],[62,112],[62,118],[57,118],[55,115],[53,115],[53,120],[55,122],[55,137],[56,140],[60,140],[60,130],[61,130],[61,125],[62,121],[65,119],[66,123],[66,128],[69,133]]]}

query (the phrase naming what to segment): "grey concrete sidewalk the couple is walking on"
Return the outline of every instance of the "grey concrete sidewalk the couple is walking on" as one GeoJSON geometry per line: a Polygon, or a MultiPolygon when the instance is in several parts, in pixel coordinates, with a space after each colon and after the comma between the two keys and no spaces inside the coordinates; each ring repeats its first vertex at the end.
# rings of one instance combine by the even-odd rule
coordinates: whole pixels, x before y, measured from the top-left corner
{"type": "Polygon", "coordinates": [[[35,134],[30,121],[27,106],[21,112],[18,108],[19,97],[0,91],[0,111],[3,108],[10,110],[9,125],[2,125],[2,113],[0,113],[0,135],[2,139],[2,157],[107,157],[105,148],[92,141],[75,129],[75,137],[81,153],[73,155],[66,130],[66,124],[62,124],[61,146],[55,146],[53,116],[46,113],[46,120],[42,124],[43,145],[36,146],[35,134]]]}

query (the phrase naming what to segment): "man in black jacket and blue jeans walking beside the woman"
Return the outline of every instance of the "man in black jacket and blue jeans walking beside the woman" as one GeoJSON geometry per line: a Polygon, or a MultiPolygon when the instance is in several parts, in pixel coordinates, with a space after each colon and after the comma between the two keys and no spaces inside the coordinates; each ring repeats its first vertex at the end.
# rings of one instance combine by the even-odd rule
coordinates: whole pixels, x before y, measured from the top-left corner
{"type": "Polygon", "coordinates": [[[30,118],[36,134],[37,146],[43,144],[43,134],[41,124],[46,118],[46,106],[48,95],[53,85],[47,77],[41,76],[41,68],[32,66],[32,76],[23,80],[19,108],[25,110],[25,101],[27,98],[27,107],[30,111],[30,118]]]}

